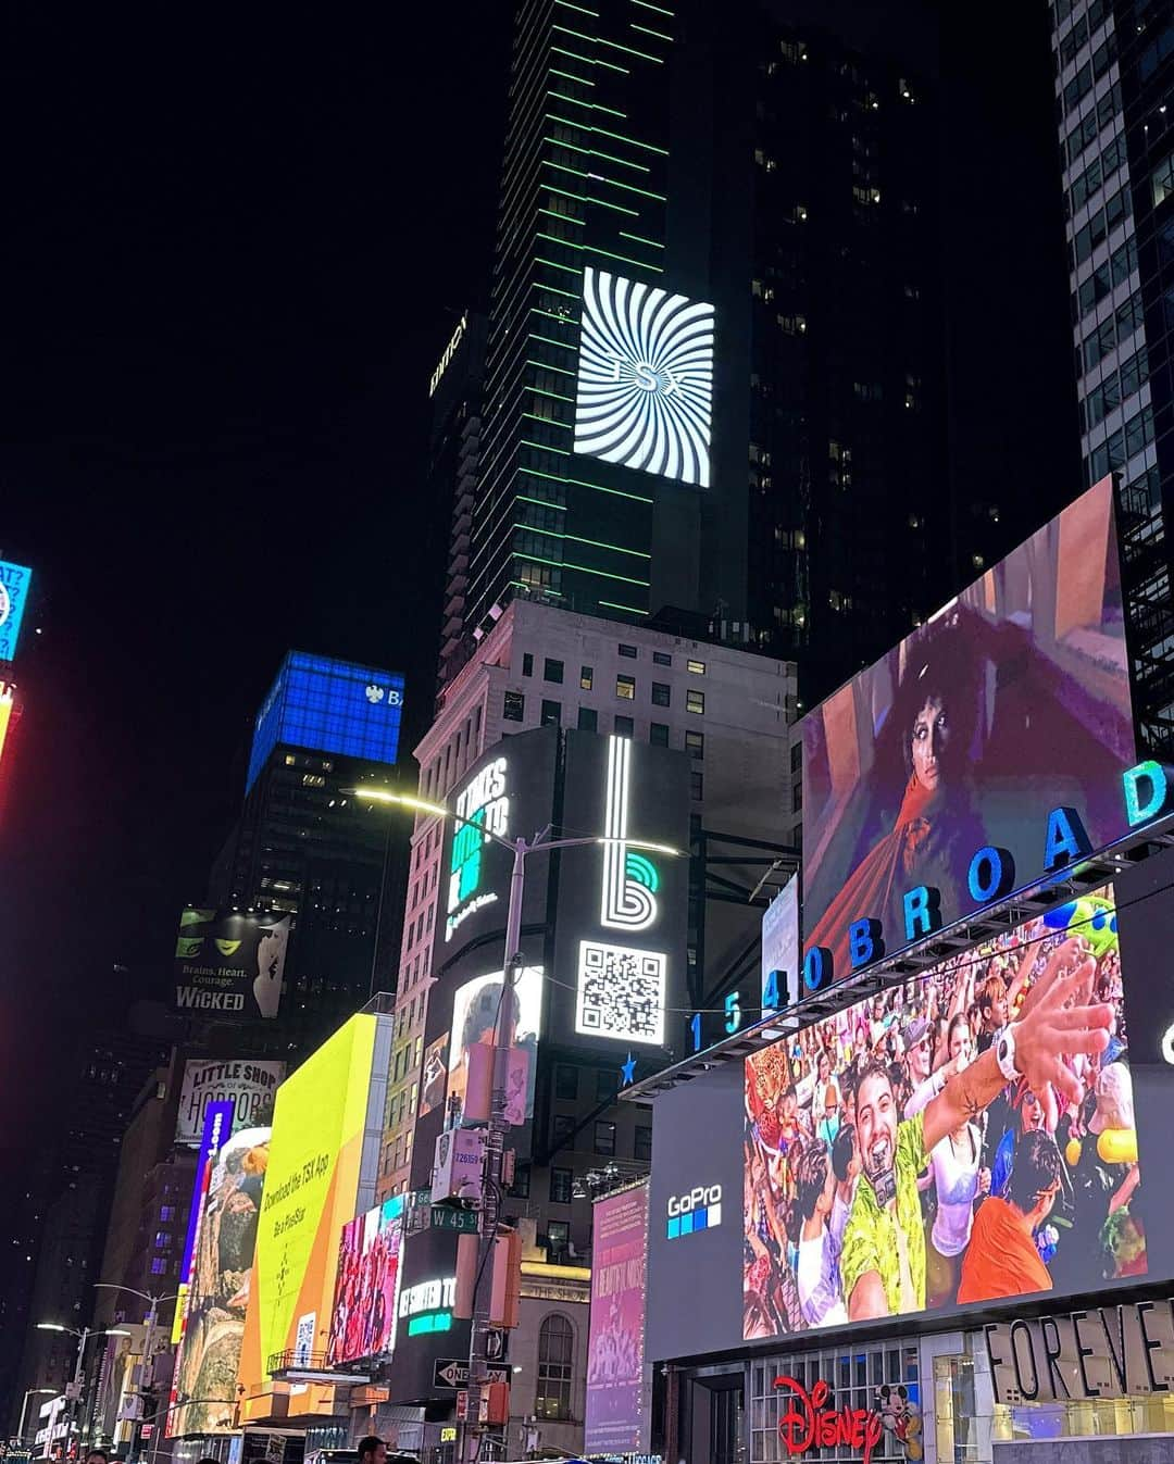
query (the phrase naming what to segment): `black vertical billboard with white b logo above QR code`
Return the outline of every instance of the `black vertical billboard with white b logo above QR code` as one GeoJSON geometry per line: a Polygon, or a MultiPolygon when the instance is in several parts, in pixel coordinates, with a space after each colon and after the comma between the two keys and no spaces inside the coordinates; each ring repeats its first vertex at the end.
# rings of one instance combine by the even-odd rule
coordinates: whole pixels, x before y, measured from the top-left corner
{"type": "Polygon", "coordinates": [[[553,1035],[612,1057],[670,1047],[687,1003],[689,760],[568,732],[565,767],[564,827],[600,840],[559,856],[553,1035]]]}

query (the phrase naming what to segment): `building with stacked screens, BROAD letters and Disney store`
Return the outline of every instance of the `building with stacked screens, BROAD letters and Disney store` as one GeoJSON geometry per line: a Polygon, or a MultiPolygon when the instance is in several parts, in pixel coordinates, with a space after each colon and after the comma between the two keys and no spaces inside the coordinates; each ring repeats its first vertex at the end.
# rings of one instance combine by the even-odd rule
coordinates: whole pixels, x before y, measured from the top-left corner
{"type": "Polygon", "coordinates": [[[798,979],[632,1092],[666,1457],[1170,1452],[1174,777],[1136,761],[1110,489],[814,709],[798,979]]]}

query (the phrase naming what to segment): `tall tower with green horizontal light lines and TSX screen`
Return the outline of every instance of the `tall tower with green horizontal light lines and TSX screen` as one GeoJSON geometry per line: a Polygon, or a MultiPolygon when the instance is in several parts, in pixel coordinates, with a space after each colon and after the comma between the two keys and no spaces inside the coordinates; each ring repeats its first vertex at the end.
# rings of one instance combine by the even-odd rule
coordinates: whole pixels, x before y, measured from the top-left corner
{"type": "Polygon", "coordinates": [[[634,0],[518,6],[466,650],[514,590],[697,603],[713,316],[669,252],[675,32],[634,0]]]}

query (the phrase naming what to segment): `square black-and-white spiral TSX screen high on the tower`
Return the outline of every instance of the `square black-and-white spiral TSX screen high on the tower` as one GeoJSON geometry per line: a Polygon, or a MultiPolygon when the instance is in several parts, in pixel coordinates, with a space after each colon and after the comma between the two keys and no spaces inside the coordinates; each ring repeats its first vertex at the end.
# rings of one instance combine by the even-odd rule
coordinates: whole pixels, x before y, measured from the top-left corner
{"type": "Polygon", "coordinates": [[[575,452],[710,483],[711,305],[583,272],[575,452]]]}

